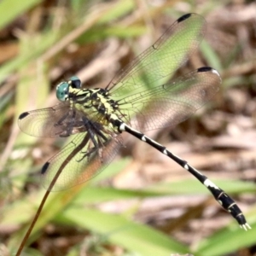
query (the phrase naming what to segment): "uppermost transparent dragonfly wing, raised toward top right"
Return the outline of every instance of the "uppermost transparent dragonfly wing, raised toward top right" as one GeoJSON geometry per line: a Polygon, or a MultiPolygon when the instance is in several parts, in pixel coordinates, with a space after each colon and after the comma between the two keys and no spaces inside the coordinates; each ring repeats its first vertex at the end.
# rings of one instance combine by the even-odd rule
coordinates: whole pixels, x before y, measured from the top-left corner
{"type": "Polygon", "coordinates": [[[116,100],[139,93],[144,82],[169,79],[189,59],[206,32],[207,22],[201,15],[183,15],[141,55],[138,55],[113,78],[107,89],[116,100]]]}

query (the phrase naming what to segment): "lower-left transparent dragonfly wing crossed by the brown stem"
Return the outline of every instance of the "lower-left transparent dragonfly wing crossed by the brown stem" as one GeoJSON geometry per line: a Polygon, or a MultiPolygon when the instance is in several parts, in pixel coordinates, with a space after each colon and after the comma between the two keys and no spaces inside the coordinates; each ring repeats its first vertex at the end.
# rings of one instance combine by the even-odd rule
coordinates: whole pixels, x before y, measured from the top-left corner
{"type": "Polygon", "coordinates": [[[44,164],[44,188],[60,191],[95,177],[113,160],[121,145],[120,136],[108,137],[95,146],[88,132],[79,133],[44,164]]]}

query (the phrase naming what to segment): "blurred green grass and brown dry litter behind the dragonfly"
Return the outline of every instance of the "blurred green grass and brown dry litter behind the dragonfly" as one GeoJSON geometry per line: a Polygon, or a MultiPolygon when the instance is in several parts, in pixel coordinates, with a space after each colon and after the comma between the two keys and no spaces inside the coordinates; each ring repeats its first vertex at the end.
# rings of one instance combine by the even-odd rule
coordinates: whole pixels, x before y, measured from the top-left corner
{"type": "Polygon", "coordinates": [[[180,72],[214,67],[221,90],[172,131],[148,135],[232,195],[253,229],[241,230],[194,177],[125,135],[99,176],[50,194],[23,255],[255,255],[255,1],[2,0],[1,256],[17,251],[45,193],[40,168],[65,142],[23,134],[19,114],[54,105],[55,85],[74,74],[84,87],[105,86],[190,12],[206,18],[207,35],[180,72]]]}

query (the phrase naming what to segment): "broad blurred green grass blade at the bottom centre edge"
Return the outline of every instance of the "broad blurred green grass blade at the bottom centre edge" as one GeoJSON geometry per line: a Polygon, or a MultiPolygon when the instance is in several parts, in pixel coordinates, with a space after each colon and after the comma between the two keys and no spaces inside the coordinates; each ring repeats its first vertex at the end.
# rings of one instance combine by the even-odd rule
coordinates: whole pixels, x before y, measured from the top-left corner
{"type": "Polygon", "coordinates": [[[91,209],[68,208],[57,219],[102,234],[108,241],[139,255],[166,256],[170,253],[189,252],[188,247],[160,231],[120,215],[91,209]]]}

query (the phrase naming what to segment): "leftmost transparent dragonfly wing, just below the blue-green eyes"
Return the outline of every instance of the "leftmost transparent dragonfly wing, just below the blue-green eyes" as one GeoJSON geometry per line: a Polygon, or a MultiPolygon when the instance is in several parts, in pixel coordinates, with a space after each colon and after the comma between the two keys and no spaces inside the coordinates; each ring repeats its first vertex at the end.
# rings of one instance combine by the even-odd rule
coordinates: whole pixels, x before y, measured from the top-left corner
{"type": "Polygon", "coordinates": [[[34,137],[67,137],[83,130],[82,113],[61,102],[52,108],[21,113],[20,130],[34,137]]]}

